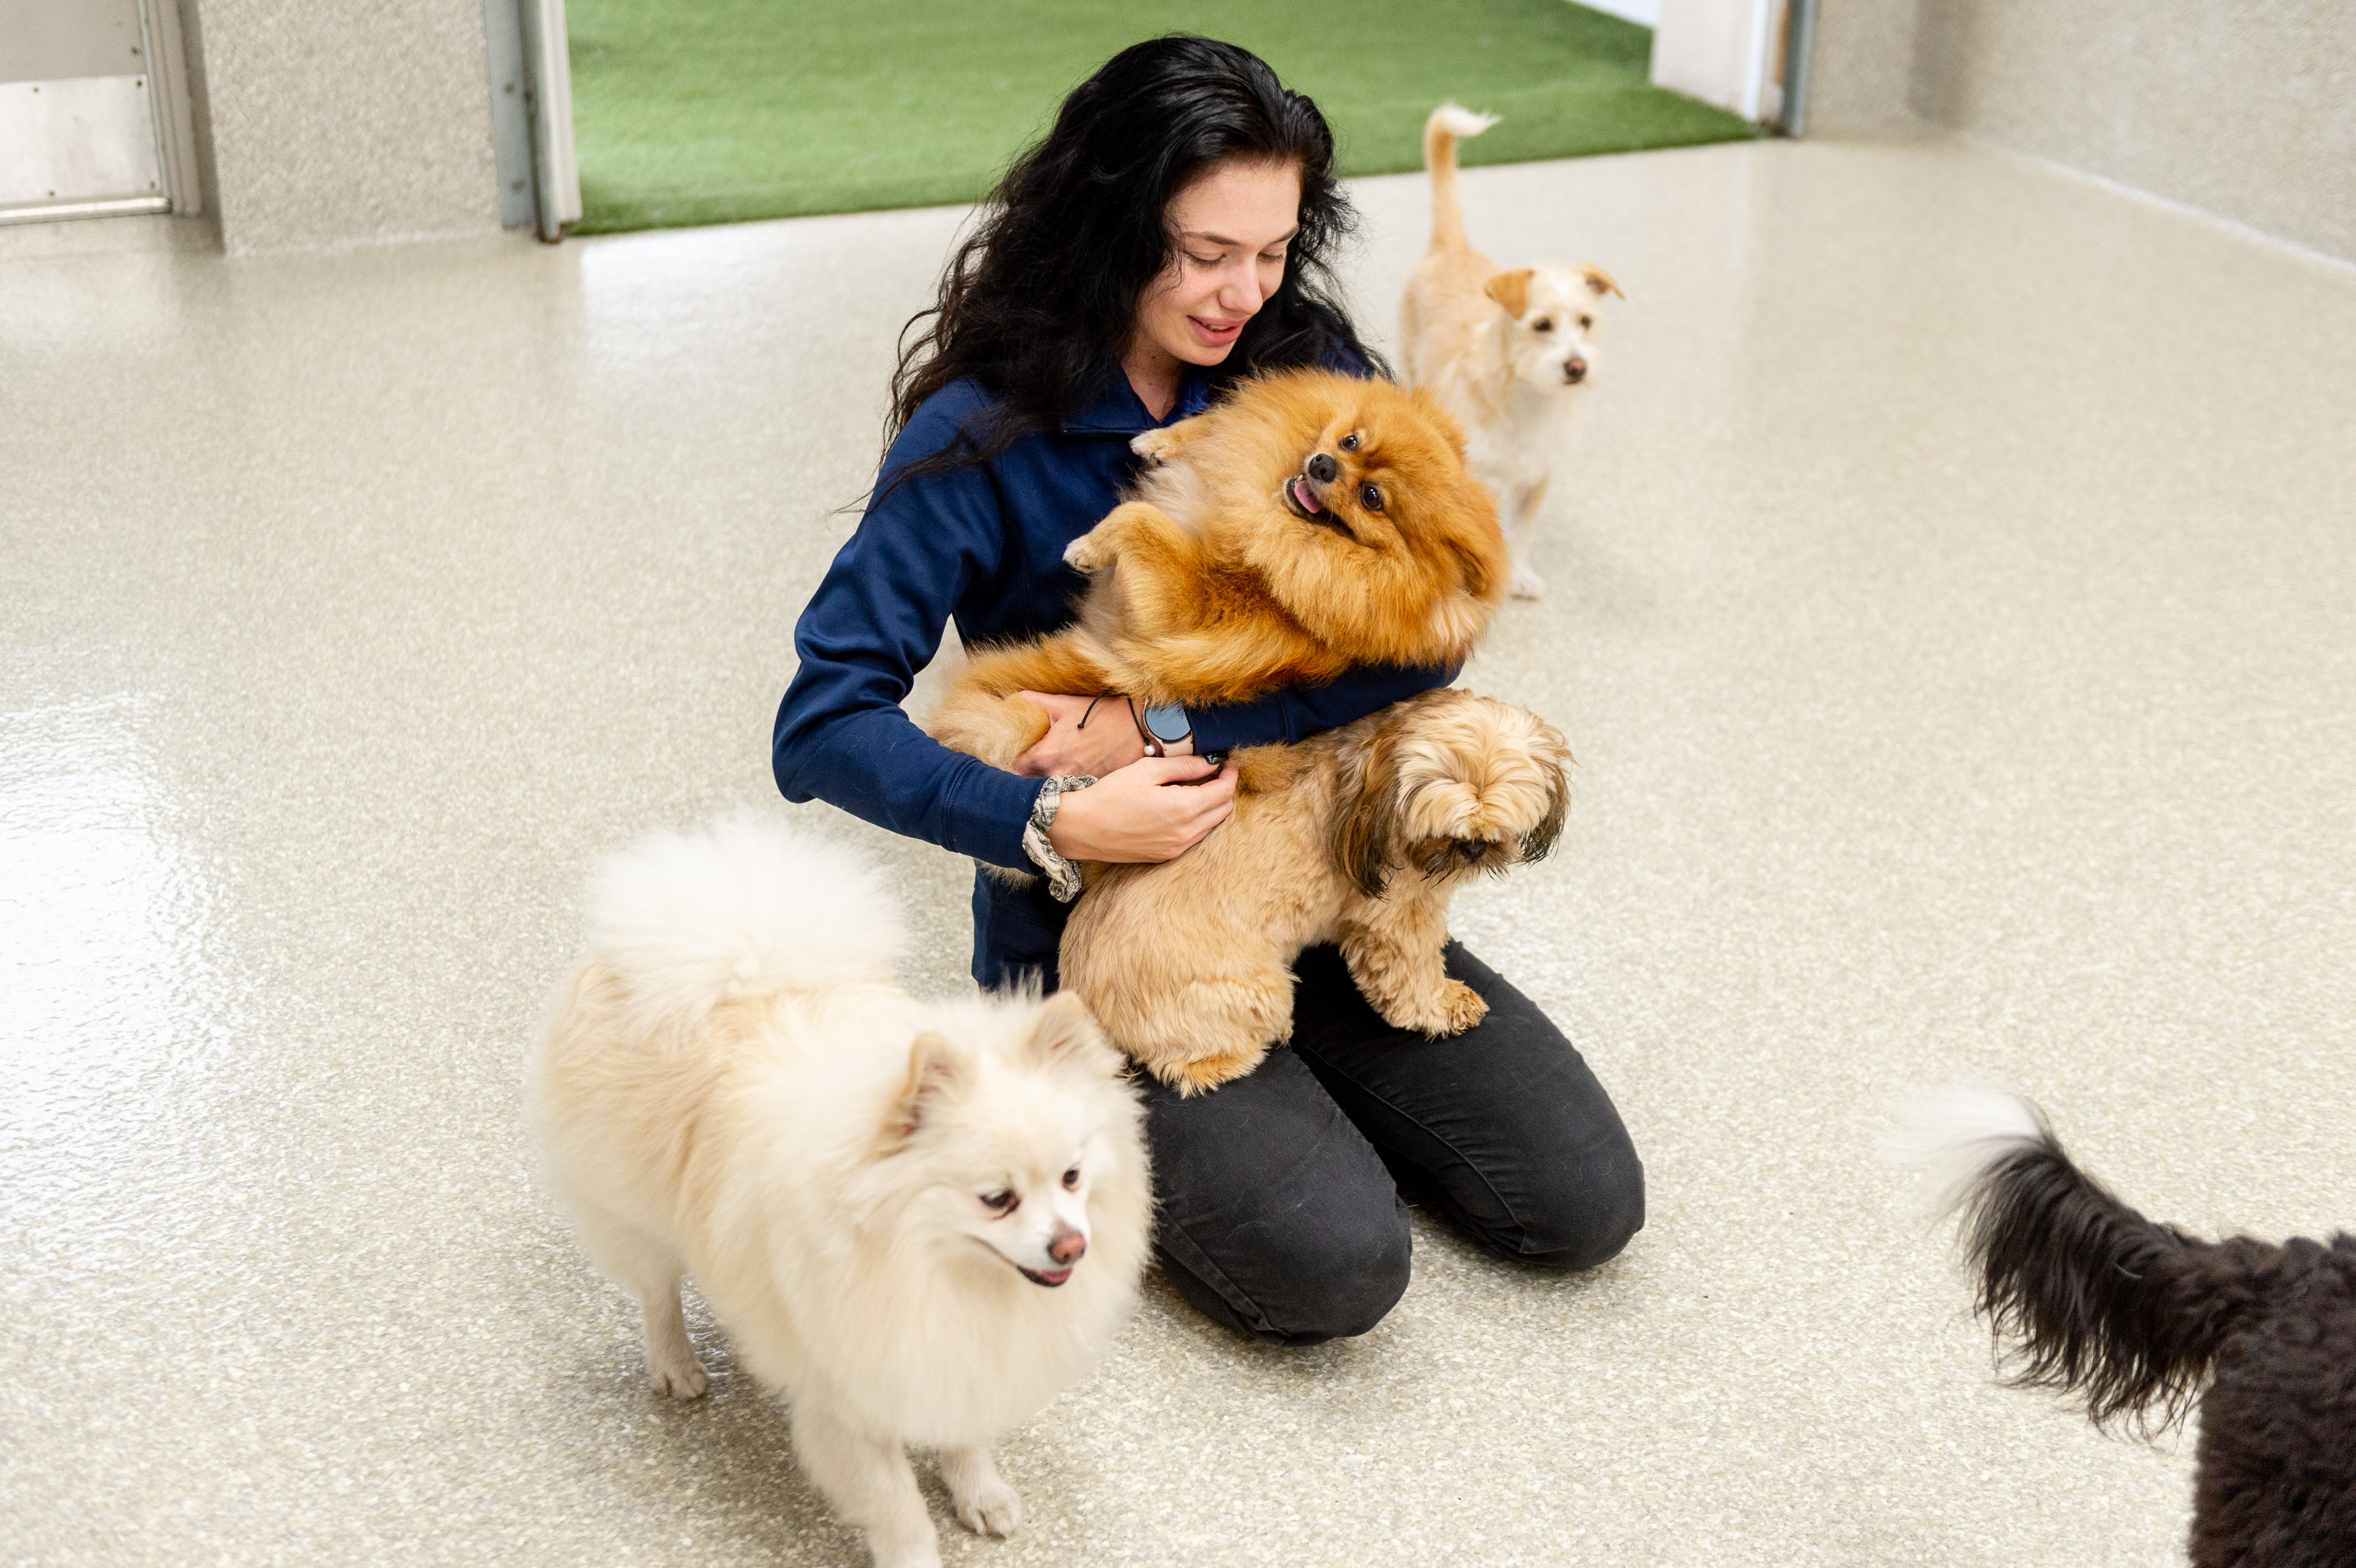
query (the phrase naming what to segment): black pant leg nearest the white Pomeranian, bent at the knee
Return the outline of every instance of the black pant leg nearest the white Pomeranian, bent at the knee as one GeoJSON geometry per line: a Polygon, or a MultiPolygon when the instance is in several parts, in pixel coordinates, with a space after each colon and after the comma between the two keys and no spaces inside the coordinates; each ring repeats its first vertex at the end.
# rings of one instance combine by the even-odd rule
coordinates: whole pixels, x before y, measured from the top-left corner
{"type": "Polygon", "coordinates": [[[1180,1099],[1145,1078],[1154,1250],[1187,1302],[1270,1344],[1364,1335],[1407,1290],[1407,1205],[1293,1052],[1180,1099]]]}

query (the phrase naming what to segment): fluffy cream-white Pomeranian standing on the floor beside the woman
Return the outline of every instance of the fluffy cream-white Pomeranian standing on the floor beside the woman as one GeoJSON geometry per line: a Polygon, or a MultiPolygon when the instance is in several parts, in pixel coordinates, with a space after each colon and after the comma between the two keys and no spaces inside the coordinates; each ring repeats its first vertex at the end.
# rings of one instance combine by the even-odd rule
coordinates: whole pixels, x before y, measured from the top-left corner
{"type": "Polygon", "coordinates": [[[957,1518],[1023,1518],[997,1434],[1084,1377],[1152,1233],[1140,1108],[1072,995],[919,1002],[881,875],[801,830],[653,835],[591,889],[589,953],[525,1070],[589,1257],[704,1391],[679,1280],[789,1396],[794,1450],[884,1568],[940,1563],[905,1445],[957,1518]]]}

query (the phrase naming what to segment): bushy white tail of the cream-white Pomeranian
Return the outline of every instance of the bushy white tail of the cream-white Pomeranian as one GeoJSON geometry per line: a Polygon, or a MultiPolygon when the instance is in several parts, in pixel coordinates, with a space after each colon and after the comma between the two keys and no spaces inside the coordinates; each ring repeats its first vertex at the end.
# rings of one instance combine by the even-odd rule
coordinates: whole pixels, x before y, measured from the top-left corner
{"type": "Polygon", "coordinates": [[[735,1000],[893,979],[907,929],[858,851],[756,816],[650,832],[589,884],[589,953],[631,1012],[676,1023],[735,1000]]]}

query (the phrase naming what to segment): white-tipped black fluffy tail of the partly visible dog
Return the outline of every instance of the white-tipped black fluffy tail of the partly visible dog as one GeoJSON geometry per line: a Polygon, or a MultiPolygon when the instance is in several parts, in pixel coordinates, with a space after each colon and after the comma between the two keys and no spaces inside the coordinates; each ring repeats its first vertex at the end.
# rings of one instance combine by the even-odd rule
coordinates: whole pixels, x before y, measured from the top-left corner
{"type": "Polygon", "coordinates": [[[1939,1212],[1963,1212],[1974,1306],[2012,1344],[2012,1382],[2083,1396],[2097,1427],[2182,1419],[2226,1335],[2264,1311],[2281,1247],[2144,1219],[2010,1089],[1948,1089],[1885,1151],[1932,1177],[1939,1212]]]}

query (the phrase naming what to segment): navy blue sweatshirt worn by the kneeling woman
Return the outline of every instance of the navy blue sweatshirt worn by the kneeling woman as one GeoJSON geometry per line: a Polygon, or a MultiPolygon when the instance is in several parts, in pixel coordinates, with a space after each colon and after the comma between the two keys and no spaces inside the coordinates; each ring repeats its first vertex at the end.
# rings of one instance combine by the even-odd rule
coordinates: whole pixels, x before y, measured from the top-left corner
{"type": "MultiPolygon", "coordinates": [[[[1058,429],[1023,436],[987,462],[891,486],[907,465],[945,450],[987,403],[978,382],[942,387],[884,455],[876,500],[794,627],[801,667],[777,707],[773,764],[792,802],[825,799],[987,865],[1032,870],[1023,825],[1039,780],[952,752],[916,729],[900,700],[933,663],[949,620],[968,646],[1072,620],[1086,578],[1063,564],[1063,549],[1119,505],[1138,469],[1131,436],[1166,420],[1145,413],[1129,377],[1112,375],[1105,394],[1058,429]]],[[[1190,375],[1171,420],[1206,406],[1204,382],[1190,375]]],[[[1350,724],[1451,679],[1444,667],[1366,667],[1329,686],[1187,717],[1197,752],[1225,752],[1350,724]]],[[[1037,969],[1053,988],[1063,917],[1044,879],[1015,889],[978,875],[973,979],[1001,986],[1037,969]]]]}

